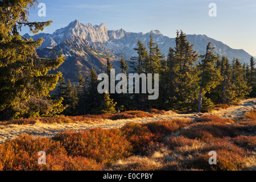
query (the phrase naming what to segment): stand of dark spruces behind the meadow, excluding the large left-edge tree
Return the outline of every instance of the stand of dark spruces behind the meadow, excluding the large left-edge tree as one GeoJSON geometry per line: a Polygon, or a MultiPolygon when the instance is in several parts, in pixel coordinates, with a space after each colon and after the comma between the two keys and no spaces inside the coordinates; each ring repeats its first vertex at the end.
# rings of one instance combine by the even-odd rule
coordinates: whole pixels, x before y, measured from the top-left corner
{"type": "MultiPolygon", "coordinates": [[[[205,54],[199,55],[186,39],[183,31],[177,31],[176,47],[170,47],[164,56],[158,44],[150,35],[147,47],[138,40],[138,56],[130,61],[120,60],[120,73],[159,73],[159,98],[148,100],[143,94],[99,94],[97,73],[91,70],[88,78],[80,74],[79,83],[72,85],[70,80],[60,79],[53,97],[63,98],[67,108],[65,115],[113,114],[123,110],[177,110],[210,111],[218,104],[232,104],[246,97],[255,97],[255,61],[242,64],[238,59],[228,60],[214,53],[209,43],[205,54]],[[131,69],[129,69],[129,66],[131,69]]],[[[110,77],[113,65],[107,56],[107,65],[101,72],[110,77]]],[[[142,82],[140,82],[142,85],[142,82]]],[[[141,86],[142,87],[142,86],[141,86]]],[[[141,89],[140,89],[141,90],[141,89]]]]}

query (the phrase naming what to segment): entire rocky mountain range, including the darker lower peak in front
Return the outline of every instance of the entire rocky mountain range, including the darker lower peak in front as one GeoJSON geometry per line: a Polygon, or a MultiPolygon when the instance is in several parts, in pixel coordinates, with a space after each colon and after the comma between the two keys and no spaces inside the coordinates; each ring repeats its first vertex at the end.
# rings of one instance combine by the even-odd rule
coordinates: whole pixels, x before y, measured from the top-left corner
{"type": "MultiPolygon", "coordinates": [[[[159,30],[152,30],[147,34],[142,32],[126,32],[122,28],[119,30],[108,30],[104,23],[100,26],[92,24],[82,24],[75,20],[67,27],[60,28],[53,34],[40,33],[33,36],[23,35],[29,39],[43,38],[44,42],[36,49],[40,57],[55,58],[64,55],[65,62],[57,71],[61,71],[65,78],[72,82],[78,80],[79,72],[82,75],[88,75],[91,68],[100,72],[101,63],[106,64],[106,54],[111,58],[113,67],[119,69],[119,59],[123,55],[126,60],[131,56],[137,55],[134,48],[140,39],[146,46],[150,40],[150,34],[159,48],[167,55],[170,46],[175,47],[175,38],[169,38],[160,33],[159,30]]],[[[209,38],[207,35],[187,35],[187,39],[194,44],[194,49],[198,53],[204,54],[207,44],[212,43],[214,51],[220,56],[225,55],[231,61],[233,57],[238,58],[242,63],[249,63],[251,55],[243,49],[233,49],[226,44],[209,38]]]]}

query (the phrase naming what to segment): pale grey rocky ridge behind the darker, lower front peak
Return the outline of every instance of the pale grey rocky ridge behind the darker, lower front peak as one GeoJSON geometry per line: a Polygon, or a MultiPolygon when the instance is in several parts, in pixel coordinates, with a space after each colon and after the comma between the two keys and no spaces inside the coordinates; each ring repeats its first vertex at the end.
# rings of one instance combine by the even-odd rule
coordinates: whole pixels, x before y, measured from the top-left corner
{"type": "MultiPolygon", "coordinates": [[[[159,48],[164,55],[167,55],[170,46],[175,47],[175,38],[169,38],[161,34],[159,30],[151,30],[146,34],[143,34],[143,32],[126,32],[122,28],[119,30],[108,30],[108,27],[104,23],[101,23],[100,26],[93,26],[91,23],[85,25],[80,23],[77,19],[69,23],[68,26],[57,29],[53,34],[41,33],[33,36],[25,34],[24,37],[32,39],[42,37],[44,42],[39,48],[47,48],[57,46],[57,44],[69,39],[71,35],[77,35],[90,43],[103,43],[106,48],[110,49],[115,55],[120,56],[123,54],[126,55],[126,59],[129,59],[129,56],[136,55],[133,48],[137,46],[138,39],[142,40],[146,45],[149,40],[149,34],[153,35],[155,42],[159,44],[159,48]]],[[[198,53],[203,54],[207,44],[211,42],[212,46],[216,47],[216,53],[220,56],[225,55],[230,61],[235,57],[242,63],[249,63],[251,57],[249,53],[243,49],[233,49],[219,40],[209,38],[207,35],[188,34],[187,39],[191,44],[194,44],[194,49],[196,49],[198,53]]]]}

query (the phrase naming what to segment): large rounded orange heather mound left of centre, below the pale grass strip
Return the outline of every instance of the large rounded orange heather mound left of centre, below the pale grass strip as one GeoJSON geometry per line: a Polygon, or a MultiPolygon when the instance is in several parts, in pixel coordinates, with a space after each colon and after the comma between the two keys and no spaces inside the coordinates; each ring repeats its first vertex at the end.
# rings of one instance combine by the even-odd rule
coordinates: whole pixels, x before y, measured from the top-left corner
{"type": "Polygon", "coordinates": [[[132,149],[122,131],[118,129],[65,131],[55,135],[53,139],[61,142],[68,155],[83,156],[104,164],[129,156],[132,149]]]}

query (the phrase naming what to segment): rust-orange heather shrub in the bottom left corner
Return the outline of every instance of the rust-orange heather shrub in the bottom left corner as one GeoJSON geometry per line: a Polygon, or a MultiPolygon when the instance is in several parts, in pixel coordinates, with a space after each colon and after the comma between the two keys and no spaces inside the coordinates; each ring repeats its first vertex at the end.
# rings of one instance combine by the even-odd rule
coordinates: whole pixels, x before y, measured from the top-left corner
{"type": "Polygon", "coordinates": [[[38,152],[47,155],[65,155],[67,152],[59,142],[47,138],[20,135],[0,145],[0,167],[2,170],[39,170],[38,152]]]}

